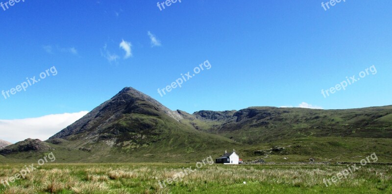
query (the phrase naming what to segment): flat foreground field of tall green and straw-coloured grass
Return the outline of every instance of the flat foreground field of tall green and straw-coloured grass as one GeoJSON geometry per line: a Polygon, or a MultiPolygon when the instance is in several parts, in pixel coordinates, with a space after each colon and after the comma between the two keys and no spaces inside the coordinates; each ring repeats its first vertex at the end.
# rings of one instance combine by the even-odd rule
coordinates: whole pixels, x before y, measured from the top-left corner
{"type": "MultiPolygon", "coordinates": [[[[30,164],[29,164],[30,165],[30,164]]],[[[28,166],[28,165],[27,165],[28,166]]],[[[38,165],[37,165],[38,166],[38,165]]],[[[260,194],[392,193],[392,166],[368,164],[329,187],[347,165],[45,164],[16,180],[4,194],[260,194]],[[198,168],[199,167],[199,168],[198,168]],[[172,184],[162,181],[185,172],[172,184]],[[185,170],[184,170],[185,169],[185,170]],[[161,181],[161,185],[158,183],[161,181]],[[244,183],[245,182],[245,183],[244,183]]],[[[25,169],[0,165],[0,180],[25,169]]]]}

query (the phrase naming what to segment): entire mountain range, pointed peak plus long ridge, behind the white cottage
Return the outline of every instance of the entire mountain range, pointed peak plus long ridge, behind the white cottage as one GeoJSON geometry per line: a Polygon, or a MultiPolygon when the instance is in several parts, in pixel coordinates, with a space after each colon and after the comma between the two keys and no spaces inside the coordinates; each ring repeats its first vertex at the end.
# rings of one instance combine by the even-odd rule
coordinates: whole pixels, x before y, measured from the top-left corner
{"type": "MultiPolygon", "coordinates": [[[[230,111],[172,111],[124,88],[49,140],[0,149],[7,161],[196,162],[236,149],[246,160],[358,162],[377,152],[391,162],[392,106],[347,110],[249,107],[230,111]]],[[[0,158],[0,162],[2,162],[0,158]]]]}

